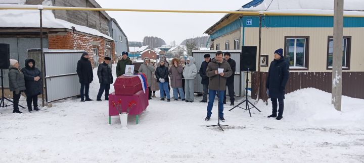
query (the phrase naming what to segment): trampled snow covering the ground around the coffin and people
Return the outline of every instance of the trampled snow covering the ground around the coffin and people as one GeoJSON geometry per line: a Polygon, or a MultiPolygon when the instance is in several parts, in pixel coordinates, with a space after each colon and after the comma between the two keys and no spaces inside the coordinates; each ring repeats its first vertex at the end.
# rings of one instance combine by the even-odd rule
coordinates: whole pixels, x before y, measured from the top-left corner
{"type": "MultiPolygon", "coordinates": [[[[96,77],[90,86],[94,100],[97,82],[96,77]]],[[[266,118],[270,102],[259,101],[262,112],[252,109],[252,117],[225,106],[221,124],[229,126],[224,132],[206,127],[217,123],[216,106],[205,122],[206,103],[149,102],[138,125],[129,116],[128,129],[122,129],[118,117],[108,125],[107,101],[67,99],[39,112],[22,109],[24,114],[0,108],[0,162],[364,161],[361,99],[343,97],[343,111],[338,112],[330,104],[331,94],[299,90],[286,95],[281,121],[266,118]]],[[[24,97],[20,104],[26,106],[24,97]]]]}

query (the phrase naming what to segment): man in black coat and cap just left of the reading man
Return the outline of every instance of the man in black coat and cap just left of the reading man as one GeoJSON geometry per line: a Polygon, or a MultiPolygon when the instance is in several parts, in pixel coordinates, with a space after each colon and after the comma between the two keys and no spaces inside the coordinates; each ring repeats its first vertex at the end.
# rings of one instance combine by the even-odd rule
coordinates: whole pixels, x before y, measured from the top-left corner
{"type": "Polygon", "coordinates": [[[199,70],[200,71],[200,76],[201,76],[202,89],[204,91],[204,94],[202,96],[202,100],[200,101],[200,103],[206,103],[207,102],[208,79],[209,79],[209,77],[207,77],[207,75],[206,75],[206,69],[207,69],[208,63],[211,62],[210,54],[205,54],[204,58],[205,58],[205,61],[202,61],[201,67],[200,67],[200,70],[199,70]]]}

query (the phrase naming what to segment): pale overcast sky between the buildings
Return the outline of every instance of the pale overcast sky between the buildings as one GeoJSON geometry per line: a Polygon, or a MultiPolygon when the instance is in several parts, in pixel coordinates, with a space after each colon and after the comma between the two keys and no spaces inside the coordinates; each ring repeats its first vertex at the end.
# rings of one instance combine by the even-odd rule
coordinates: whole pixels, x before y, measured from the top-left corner
{"type": "MultiPolygon", "coordinates": [[[[102,8],[153,10],[236,11],[251,0],[96,0],[102,8]]],[[[162,38],[180,44],[186,38],[203,33],[225,14],[107,12],[115,18],[129,41],[143,41],[144,36],[162,38]]],[[[206,35],[206,34],[205,34],[206,35]]]]}

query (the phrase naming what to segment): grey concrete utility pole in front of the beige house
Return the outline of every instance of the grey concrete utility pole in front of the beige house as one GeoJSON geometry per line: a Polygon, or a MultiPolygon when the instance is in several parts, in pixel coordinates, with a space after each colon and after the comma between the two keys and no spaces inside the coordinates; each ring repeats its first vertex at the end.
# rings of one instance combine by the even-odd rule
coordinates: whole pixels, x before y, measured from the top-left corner
{"type": "Polygon", "coordinates": [[[341,111],[344,0],[334,1],[334,51],[332,68],[332,98],[335,109],[341,111]]]}

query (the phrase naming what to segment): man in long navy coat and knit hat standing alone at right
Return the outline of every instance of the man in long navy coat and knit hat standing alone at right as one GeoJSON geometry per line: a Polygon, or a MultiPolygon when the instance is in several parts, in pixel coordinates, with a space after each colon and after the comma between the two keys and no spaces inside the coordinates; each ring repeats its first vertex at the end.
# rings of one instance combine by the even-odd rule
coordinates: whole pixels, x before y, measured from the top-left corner
{"type": "Polygon", "coordinates": [[[272,114],[268,118],[277,117],[277,120],[283,118],[284,94],[289,76],[289,65],[283,57],[283,49],[275,51],[275,59],[270,62],[268,77],[265,87],[267,94],[272,102],[272,114]],[[277,116],[277,99],[279,102],[279,110],[277,116]]]}

